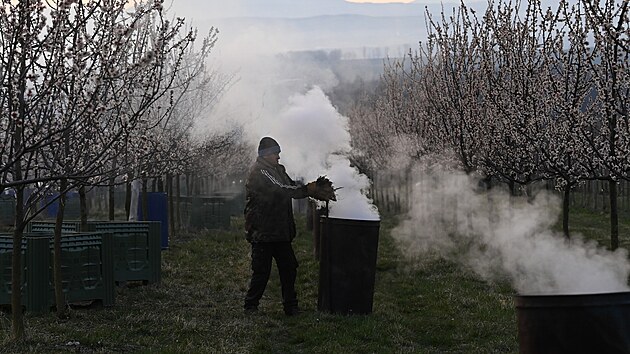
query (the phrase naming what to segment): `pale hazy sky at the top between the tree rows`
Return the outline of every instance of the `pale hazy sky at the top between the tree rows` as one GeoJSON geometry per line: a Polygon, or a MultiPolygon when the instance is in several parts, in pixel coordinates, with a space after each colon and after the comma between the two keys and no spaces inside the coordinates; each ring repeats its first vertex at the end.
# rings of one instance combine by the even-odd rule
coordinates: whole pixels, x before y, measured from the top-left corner
{"type": "MultiPolygon", "coordinates": [[[[444,1],[445,4],[448,2],[444,1]]],[[[415,46],[424,37],[425,6],[437,13],[441,5],[436,3],[437,0],[406,4],[351,3],[345,0],[166,0],[165,6],[171,15],[186,18],[187,23],[197,27],[201,33],[206,33],[210,27],[218,27],[220,47],[264,46],[268,51],[283,52],[415,46]],[[370,18],[313,19],[323,15],[362,15],[370,18]],[[391,20],[393,17],[404,18],[391,20]],[[411,20],[413,17],[417,19],[411,20]],[[248,18],[248,21],[242,18],[248,18]]],[[[479,0],[470,3],[479,3],[479,0]]],[[[452,7],[454,4],[445,6],[452,7]]]]}

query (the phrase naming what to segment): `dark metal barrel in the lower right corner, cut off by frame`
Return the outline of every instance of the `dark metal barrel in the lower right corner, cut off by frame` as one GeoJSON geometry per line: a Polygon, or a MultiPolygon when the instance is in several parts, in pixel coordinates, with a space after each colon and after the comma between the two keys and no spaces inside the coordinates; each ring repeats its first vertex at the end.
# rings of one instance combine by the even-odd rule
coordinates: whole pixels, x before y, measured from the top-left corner
{"type": "Polygon", "coordinates": [[[630,353],[630,292],[515,297],[520,352],[630,353]]]}

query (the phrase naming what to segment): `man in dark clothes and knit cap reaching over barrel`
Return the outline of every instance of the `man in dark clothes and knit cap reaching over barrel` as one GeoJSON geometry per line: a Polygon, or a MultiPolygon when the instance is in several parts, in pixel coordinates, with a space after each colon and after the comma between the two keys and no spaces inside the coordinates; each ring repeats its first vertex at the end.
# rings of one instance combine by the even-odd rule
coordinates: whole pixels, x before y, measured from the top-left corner
{"type": "Polygon", "coordinates": [[[245,311],[255,312],[263,296],[272,259],[276,260],[282,287],[282,305],[287,316],[298,314],[295,278],[298,262],[291,246],[295,238],[292,199],[313,197],[334,200],[332,183],[327,179],[301,185],[287,175],[279,164],[280,146],[270,137],[258,145],[258,158],[245,184],[245,230],[251,243],[252,277],[245,296],[245,311]]]}

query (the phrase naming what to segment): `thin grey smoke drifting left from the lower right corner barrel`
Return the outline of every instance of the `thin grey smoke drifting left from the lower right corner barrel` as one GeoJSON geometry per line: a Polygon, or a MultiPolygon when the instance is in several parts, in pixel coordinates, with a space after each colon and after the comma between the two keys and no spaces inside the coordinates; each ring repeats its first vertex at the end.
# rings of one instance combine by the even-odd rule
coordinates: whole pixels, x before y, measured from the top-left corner
{"type": "Polygon", "coordinates": [[[560,200],[540,191],[510,198],[485,191],[458,172],[417,169],[413,205],[394,231],[411,258],[438,254],[487,280],[508,277],[521,294],[582,294],[630,290],[627,251],[551,231],[560,200]]]}

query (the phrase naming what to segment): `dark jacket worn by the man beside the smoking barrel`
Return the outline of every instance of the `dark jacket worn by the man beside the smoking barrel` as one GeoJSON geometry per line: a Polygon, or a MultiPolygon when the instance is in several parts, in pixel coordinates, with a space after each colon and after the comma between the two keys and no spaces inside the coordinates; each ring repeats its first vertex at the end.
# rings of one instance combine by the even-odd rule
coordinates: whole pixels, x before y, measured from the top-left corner
{"type": "Polygon", "coordinates": [[[284,166],[256,159],[245,184],[245,230],[249,242],[295,238],[292,199],[305,198],[306,186],[294,182],[284,166]]]}

